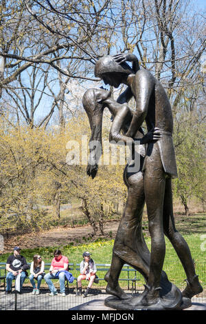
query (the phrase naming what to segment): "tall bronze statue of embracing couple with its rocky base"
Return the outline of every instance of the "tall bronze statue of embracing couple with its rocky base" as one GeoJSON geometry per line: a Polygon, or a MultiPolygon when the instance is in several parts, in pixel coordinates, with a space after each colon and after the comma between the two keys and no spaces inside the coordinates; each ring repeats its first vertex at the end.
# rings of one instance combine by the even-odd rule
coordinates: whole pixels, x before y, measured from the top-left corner
{"type": "MultiPolygon", "coordinates": [[[[93,89],[93,95],[89,98],[88,93],[84,95],[83,104],[92,130],[91,139],[101,137],[100,124],[104,107],[108,107],[114,116],[111,140],[135,144],[135,137],[138,137],[137,132],[141,131],[143,121],[146,121],[148,128],[148,134],[140,141],[141,144],[148,145],[146,156],[141,156],[139,172],[124,172],[128,199],[115,239],[111,269],[106,274],[107,292],[120,300],[126,300],[121,304],[116,303],[113,298],[107,304],[115,305],[117,309],[163,310],[188,307],[190,303],[186,298],[192,298],[203,288],[196,276],[190,248],[174,225],[171,178],[177,176],[177,172],[172,143],[172,110],[168,96],[161,83],[150,72],[139,68],[137,57],[133,54],[103,57],[95,65],[95,76],[115,88],[121,83],[128,85],[128,88],[117,102],[104,90],[93,89]],[[133,61],[133,68],[126,61],[133,61]],[[126,104],[131,97],[136,100],[134,112],[126,104]],[[91,103],[94,108],[89,111],[91,103]],[[121,130],[124,134],[121,134],[121,130]],[[141,231],[144,201],[148,211],[151,254],[141,231]],[[187,287],[183,294],[168,281],[162,271],[165,256],[164,234],[174,246],[187,276],[187,287]],[[128,298],[119,287],[118,278],[124,263],[139,270],[146,280],[144,293],[137,297],[128,298]]],[[[97,165],[98,161],[89,163],[87,173],[94,177],[97,165]]]]}

